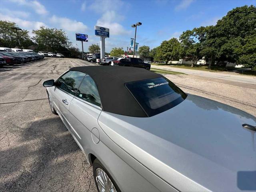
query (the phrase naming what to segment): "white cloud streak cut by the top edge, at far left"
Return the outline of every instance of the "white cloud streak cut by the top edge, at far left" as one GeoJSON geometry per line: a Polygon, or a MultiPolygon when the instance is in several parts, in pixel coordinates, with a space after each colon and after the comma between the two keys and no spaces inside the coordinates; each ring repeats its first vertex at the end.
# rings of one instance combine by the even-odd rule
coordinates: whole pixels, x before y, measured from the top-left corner
{"type": "Polygon", "coordinates": [[[34,1],[28,1],[28,0],[12,0],[11,2],[14,3],[18,3],[20,5],[23,6],[27,6],[32,8],[32,10],[34,10],[37,14],[40,15],[46,15],[48,14],[48,11],[46,10],[46,8],[44,7],[44,5],[42,5],[40,2],[34,0],[34,1]]]}

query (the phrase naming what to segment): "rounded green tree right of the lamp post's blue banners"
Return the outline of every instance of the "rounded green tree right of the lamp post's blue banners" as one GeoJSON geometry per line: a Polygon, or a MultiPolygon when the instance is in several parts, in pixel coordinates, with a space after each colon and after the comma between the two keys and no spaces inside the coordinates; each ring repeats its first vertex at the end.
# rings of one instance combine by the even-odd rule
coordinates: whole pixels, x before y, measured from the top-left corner
{"type": "Polygon", "coordinates": [[[176,38],[172,38],[168,41],[163,41],[156,51],[156,60],[168,61],[179,60],[182,55],[182,46],[176,38]]]}

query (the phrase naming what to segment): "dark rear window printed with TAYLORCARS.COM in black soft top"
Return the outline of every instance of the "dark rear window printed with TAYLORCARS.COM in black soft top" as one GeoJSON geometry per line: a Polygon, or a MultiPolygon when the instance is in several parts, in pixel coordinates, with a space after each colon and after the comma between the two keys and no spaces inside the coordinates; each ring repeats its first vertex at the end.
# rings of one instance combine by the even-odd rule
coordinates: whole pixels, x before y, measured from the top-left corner
{"type": "Polygon", "coordinates": [[[154,78],[125,84],[148,116],[162,113],[185,100],[180,88],[166,78],[154,78]]]}

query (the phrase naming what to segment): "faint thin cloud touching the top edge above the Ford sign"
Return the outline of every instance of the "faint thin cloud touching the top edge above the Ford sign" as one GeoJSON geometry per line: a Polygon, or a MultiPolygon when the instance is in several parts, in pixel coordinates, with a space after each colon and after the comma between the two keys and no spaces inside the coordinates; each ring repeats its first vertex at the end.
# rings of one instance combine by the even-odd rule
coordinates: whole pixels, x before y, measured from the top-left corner
{"type": "Polygon", "coordinates": [[[119,10],[124,5],[120,0],[96,0],[90,4],[89,8],[97,13],[109,10],[119,10]]]}

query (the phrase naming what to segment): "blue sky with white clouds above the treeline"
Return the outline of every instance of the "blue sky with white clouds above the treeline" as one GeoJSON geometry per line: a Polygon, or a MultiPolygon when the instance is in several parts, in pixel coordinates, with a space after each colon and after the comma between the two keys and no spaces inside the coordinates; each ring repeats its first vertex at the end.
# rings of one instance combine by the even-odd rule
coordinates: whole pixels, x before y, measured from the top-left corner
{"type": "Polygon", "coordinates": [[[63,29],[80,49],[75,33],[88,34],[84,51],[100,42],[94,26],[104,26],[110,28],[106,39],[110,52],[113,47],[126,50],[136,22],[142,22],[136,42],[154,48],[185,30],[216,24],[233,8],[252,4],[255,0],[0,0],[0,20],[16,22],[30,34],[40,26],[63,29]]]}

